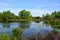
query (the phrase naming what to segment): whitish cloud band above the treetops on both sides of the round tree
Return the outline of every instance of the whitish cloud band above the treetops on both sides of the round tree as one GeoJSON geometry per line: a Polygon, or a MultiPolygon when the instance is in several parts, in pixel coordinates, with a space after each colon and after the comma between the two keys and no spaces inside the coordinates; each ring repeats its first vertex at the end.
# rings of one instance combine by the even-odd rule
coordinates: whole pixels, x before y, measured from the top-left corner
{"type": "MultiPolygon", "coordinates": [[[[3,9],[2,11],[6,11],[6,10],[10,10],[11,12],[13,12],[15,15],[18,15],[19,11],[21,11],[22,9],[3,9]]],[[[46,9],[26,9],[28,11],[31,12],[32,16],[42,16],[43,14],[45,15],[46,13],[51,14],[51,12],[53,12],[54,10],[46,10],[46,9]]],[[[1,12],[1,11],[0,11],[1,12]]]]}

